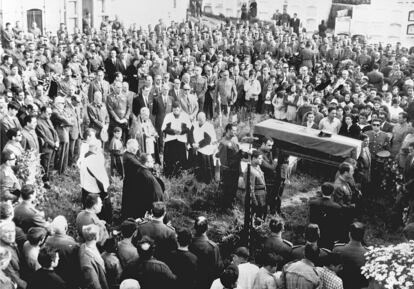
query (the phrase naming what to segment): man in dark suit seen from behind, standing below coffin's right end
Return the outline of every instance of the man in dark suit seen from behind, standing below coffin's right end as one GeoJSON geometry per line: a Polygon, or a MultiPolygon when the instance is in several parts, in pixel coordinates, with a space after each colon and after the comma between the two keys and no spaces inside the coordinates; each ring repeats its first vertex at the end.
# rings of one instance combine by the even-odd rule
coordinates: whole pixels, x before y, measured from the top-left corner
{"type": "Polygon", "coordinates": [[[338,238],[337,228],[341,216],[341,206],[332,200],[334,186],[324,183],[321,186],[321,196],[309,201],[309,222],[319,225],[321,238],[319,245],[332,248],[338,238]]]}

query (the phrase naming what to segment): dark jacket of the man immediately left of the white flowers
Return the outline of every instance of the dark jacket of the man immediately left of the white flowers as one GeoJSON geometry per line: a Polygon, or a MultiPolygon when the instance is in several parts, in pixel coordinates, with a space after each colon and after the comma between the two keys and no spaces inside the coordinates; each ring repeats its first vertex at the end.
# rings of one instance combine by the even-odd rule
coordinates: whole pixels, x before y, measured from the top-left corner
{"type": "Polygon", "coordinates": [[[361,274],[361,267],[365,265],[365,253],[368,249],[358,242],[336,244],[332,250],[342,257],[344,269],[339,277],[344,282],[344,289],[360,289],[368,286],[368,280],[361,274]]]}

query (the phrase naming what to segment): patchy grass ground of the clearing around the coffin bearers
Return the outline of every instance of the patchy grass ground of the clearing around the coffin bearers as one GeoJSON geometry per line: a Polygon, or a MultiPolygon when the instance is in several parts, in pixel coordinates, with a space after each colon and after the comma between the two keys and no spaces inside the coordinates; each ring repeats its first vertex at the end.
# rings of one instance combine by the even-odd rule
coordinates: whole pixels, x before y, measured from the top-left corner
{"type": "MultiPolygon", "coordinates": [[[[263,120],[263,116],[253,116],[250,120],[241,121],[239,137],[248,135],[251,126],[263,120]]],[[[226,119],[221,125],[215,122],[217,137],[220,139],[226,119]]],[[[321,172],[315,169],[312,164],[301,165],[294,173],[290,182],[286,184],[283,198],[282,211],[286,220],[286,232],[284,238],[294,244],[304,242],[303,233],[308,223],[307,201],[315,196],[320,184],[326,180],[326,175],[332,172],[321,172]]],[[[209,219],[209,236],[212,240],[220,243],[222,248],[228,247],[231,251],[234,246],[240,245],[239,231],[243,225],[244,192],[239,191],[237,205],[233,210],[223,211],[218,206],[218,184],[200,184],[195,181],[192,173],[184,172],[179,178],[164,179],[166,185],[166,199],[168,217],[174,227],[191,227],[194,217],[204,215],[209,219]]],[[[138,189],[138,188],[137,188],[138,189]]],[[[52,189],[47,192],[48,201],[43,204],[46,216],[54,218],[57,215],[64,215],[69,222],[69,233],[76,237],[74,228],[77,213],[81,210],[80,205],[79,172],[70,168],[66,175],[54,176],[52,189]]],[[[122,181],[114,178],[111,181],[110,192],[114,206],[114,223],[119,224],[119,212],[121,207],[122,181]]],[[[380,198],[379,198],[380,199],[380,198]]],[[[377,201],[374,197],[366,202],[363,213],[363,222],[367,224],[366,243],[390,244],[402,241],[401,231],[391,231],[387,224],[389,215],[386,213],[387,204],[377,201]]],[[[267,233],[267,226],[257,228],[262,238],[267,233]]],[[[256,240],[256,243],[259,243],[256,240]]]]}

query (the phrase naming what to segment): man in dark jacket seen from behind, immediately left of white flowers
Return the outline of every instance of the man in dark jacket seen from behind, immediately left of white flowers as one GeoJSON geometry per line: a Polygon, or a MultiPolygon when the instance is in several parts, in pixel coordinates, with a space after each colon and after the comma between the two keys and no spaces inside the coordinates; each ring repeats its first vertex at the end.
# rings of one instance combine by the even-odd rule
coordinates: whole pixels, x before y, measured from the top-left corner
{"type": "Polygon", "coordinates": [[[349,229],[349,243],[337,244],[333,249],[343,260],[340,277],[344,282],[344,289],[361,289],[368,286],[367,279],[361,274],[361,267],[365,265],[365,253],[368,252],[362,245],[364,234],[364,225],[355,222],[349,229]]]}

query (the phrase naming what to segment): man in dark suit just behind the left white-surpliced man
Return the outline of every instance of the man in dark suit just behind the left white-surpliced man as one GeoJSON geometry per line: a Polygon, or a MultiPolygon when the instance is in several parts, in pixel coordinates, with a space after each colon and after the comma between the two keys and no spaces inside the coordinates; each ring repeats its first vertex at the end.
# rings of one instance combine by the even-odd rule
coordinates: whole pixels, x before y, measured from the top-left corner
{"type": "MultiPolygon", "coordinates": [[[[163,148],[163,133],[161,131],[162,123],[164,122],[165,115],[172,112],[172,103],[173,99],[168,95],[170,86],[164,84],[162,87],[161,95],[154,99],[154,104],[152,107],[152,114],[155,117],[155,129],[158,132],[158,142],[160,149],[163,148]]],[[[163,151],[163,150],[162,150],[163,151]]]]}

